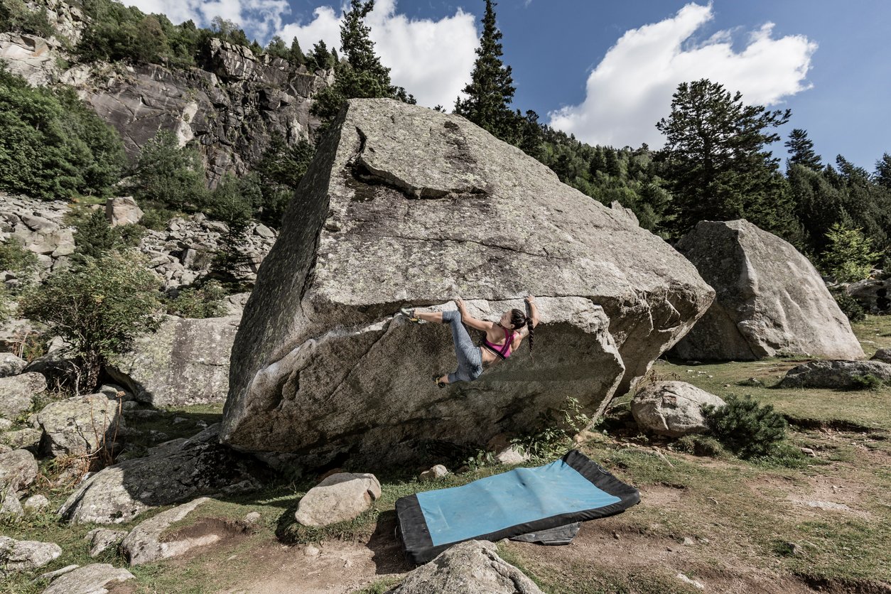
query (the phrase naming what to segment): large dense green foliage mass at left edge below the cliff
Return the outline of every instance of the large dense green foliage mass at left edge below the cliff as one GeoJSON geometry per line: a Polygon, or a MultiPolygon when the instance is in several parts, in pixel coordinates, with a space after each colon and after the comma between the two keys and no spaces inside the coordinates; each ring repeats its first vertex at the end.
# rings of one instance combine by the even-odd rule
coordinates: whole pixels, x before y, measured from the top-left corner
{"type": "Polygon", "coordinates": [[[69,87],[32,87],[0,63],[0,190],[107,195],[126,163],[117,132],[69,87]]]}

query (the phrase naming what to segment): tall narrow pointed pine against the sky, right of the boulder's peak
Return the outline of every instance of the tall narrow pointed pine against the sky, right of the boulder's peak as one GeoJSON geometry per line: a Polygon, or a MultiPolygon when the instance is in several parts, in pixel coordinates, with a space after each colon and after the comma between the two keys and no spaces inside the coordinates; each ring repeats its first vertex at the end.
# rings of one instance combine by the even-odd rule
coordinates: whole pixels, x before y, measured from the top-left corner
{"type": "Polygon", "coordinates": [[[511,67],[502,61],[501,31],[495,27],[495,3],[486,0],[483,15],[483,36],[479,39],[477,60],[473,64],[470,84],[464,87],[467,99],[454,102],[454,113],[468,118],[505,142],[516,143],[518,118],[510,109],[516,90],[511,67]]]}

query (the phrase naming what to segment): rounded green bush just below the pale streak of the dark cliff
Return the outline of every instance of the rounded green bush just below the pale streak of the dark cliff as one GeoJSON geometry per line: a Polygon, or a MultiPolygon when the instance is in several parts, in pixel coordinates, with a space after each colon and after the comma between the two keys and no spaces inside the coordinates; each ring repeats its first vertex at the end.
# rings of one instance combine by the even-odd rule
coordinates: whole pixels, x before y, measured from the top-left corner
{"type": "Polygon", "coordinates": [[[150,205],[189,212],[207,202],[198,152],[180,147],[176,135],[166,130],[143,144],[134,182],[135,198],[150,205]]]}

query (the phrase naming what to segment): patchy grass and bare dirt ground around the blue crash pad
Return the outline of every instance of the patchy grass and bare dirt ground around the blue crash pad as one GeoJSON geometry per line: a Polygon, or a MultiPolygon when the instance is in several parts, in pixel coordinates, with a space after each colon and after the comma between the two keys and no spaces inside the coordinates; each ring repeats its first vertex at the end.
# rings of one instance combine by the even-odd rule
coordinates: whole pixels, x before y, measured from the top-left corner
{"type": "MultiPolygon", "coordinates": [[[[868,354],[891,346],[891,319],[871,316],[856,324],[854,331],[868,354]]],[[[883,591],[891,583],[891,505],[887,499],[891,387],[856,392],[773,387],[796,364],[789,359],[694,366],[658,363],[653,373],[660,377],[678,377],[723,397],[748,394],[771,403],[791,423],[783,453],[761,460],[740,460],[728,454],[693,456],[683,452],[679,443],[638,435],[629,422],[630,398],[626,396],[614,403],[610,418],[580,449],[640,489],[641,504],[615,517],[585,523],[567,547],[502,542],[503,557],[549,594],[701,591],[683,582],[679,574],[703,583],[707,591],[718,592],[883,591]],[[747,385],[752,383],[749,378],[761,385],[747,385]],[[812,449],[815,457],[806,457],[800,448],[812,449]]],[[[143,435],[154,430],[173,438],[194,433],[197,420],[216,422],[219,414],[218,406],[192,407],[130,425],[143,435]],[[189,422],[175,424],[177,417],[189,422]]],[[[298,500],[317,476],[282,479],[264,492],[212,498],[200,514],[171,530],[184,530],[208,517],[237,525],[251,511],[259,512],[261,519],[244,532],[184,559],[130,568],[136,580],[124,591],[316,591],[309,581],[313,572],[320,571],[322,561],[307,561],[303,553],[313,545],[323,549],[320,558],[339,564],[326,569],[331,575],[323,574],[324,579],[339,582],[351,575],[358,584],[356,591],[384,592],[410,568],[401,561],[393,535],[396,499],[466,484],[507,469],[478,468],[432,483],[419,482],[415,469],[379,475],[383,494],[372,509],[352,522],[325,528],[307,528],[293,521],[298,500]],[[367,553],[367,558],[350,569],[349,559],[357,557],[346,557],[347,553],[367,553]],[[364,569],[359,571],[356,567],[362,563],[364,569]],[[291,574],[286,574],[289,570],[291,574]],[[284,575],[282,581],[290,580],[283,590],[257,585],[261,578],[276,573],[284,575]]],[[[51,509],[67,495],[53,490],[48,480],[38,482],[36,491],[53,500],[51,509]]],[[[139,521],[161,510],[152,510],[139,521]]],[[[114,527],[127,529],[135,524],[114,527]]],[[[19,524],[0,525],[0,533],[60,544],[65,551],[62,557],[41,572],[71,563],[126,566],[117,552],[98,559],[87,557],[83,538],[93,527],[60,525],[47,513],[19,524]]],[[[29,582],[33,578],[7,578],[0,582],[0,592],[43,590],[45,583],[29,582]]]]}

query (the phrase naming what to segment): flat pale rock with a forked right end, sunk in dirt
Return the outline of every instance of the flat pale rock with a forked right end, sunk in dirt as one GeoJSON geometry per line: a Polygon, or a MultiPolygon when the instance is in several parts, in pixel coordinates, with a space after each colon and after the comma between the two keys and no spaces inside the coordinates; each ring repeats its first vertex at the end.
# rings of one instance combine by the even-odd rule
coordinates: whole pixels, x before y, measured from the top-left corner
{"type": "Polygon", "coordinates": [[[143,563],[151,563],[160,559],[179,557],[187,550],[218,541],[220,535],[214,533],[197,537],[186,536],[174,540],[161,538],[161,533],[166,531],[171,524],[188,516],[205,501],[208,501],[208,498],[201,497],[174,509],[162,511],[131,530],[120,545],[124,555],[130,560],[130,565],[140,566],[143,563]]]}

